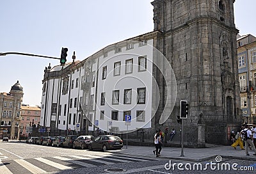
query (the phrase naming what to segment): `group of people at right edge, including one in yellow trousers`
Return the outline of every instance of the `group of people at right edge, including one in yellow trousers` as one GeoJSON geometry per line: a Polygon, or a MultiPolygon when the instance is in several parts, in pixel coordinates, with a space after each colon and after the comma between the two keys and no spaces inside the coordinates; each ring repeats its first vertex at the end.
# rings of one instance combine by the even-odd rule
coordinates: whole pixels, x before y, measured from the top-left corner
{"type": "Polygon", "coordinates": [[[241,129],[237,132],[235,135],[234,131],[231,132],[231,141],[232,141],[232,147],[236,149],[236,146],[240,146],[242,150],[244,150],[245,144],[245,154],[250,155],[248,152],[248,148],[250,150],[253,150],[253,152],[256,155],[256,123],[253,123],[252,129],[249,128],[249,125],[243,124],[241,129]],[[243,143],[244,142],[244,143],[243,143]]]}

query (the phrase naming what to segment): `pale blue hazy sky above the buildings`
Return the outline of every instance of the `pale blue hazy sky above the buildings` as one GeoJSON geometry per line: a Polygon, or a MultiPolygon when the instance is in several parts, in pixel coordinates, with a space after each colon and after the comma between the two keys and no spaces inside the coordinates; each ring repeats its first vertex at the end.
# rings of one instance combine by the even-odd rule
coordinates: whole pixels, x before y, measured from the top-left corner
{"type": "MultiPolygon", "coordinates": [[[[0,52],[24,52],[83,60],[115,42],[153,31],[153,0],[23,0],[1,1],[0,52]]],[[[234,14],[240,35],[256,36],[255,0],[236,0],[234,14]]],[[[9,93],[18,80],[23,103],[41,105],[44,69],[58,59],[9,54],[0,56],[0,92],[9,93]]]]}

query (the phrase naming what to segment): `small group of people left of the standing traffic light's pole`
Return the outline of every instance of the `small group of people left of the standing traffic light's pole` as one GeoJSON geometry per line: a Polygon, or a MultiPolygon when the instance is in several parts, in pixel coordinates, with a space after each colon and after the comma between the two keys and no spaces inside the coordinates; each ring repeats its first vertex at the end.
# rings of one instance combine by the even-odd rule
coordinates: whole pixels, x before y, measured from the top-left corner
{"type": "MultiPolygon", "coordinates": [[[[166,134],[168,134],[168,128],[166,128],[164,130],[164,132],[162,132],[161,129],[159,129],[158,131],[156,131],[156,134],[154,135],[154,143],[155,143],[155,146],[156,146],[156,150],[153,150],[153,153],[156,155],[156,157],[161,156],[160,152],[162,150],[164,136],[166,134]]],[[[172,141],[174,135],[175,135],[175,130],[172,129],[172,131],[170,133],[170,141],[172,141]]]]}

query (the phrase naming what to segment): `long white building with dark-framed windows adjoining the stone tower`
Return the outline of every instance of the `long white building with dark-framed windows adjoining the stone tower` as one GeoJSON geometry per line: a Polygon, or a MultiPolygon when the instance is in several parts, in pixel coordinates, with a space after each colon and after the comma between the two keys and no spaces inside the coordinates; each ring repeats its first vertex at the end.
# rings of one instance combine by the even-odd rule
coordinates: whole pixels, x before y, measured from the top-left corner
{"type": "Polygon", "coordinates": [[[114,43],[64,67],[45,68],[40,125],[54,134],[97,128],[119,133],[127,131],[127,115],[129,131],[150,128],[157,33],[114,43]]]}

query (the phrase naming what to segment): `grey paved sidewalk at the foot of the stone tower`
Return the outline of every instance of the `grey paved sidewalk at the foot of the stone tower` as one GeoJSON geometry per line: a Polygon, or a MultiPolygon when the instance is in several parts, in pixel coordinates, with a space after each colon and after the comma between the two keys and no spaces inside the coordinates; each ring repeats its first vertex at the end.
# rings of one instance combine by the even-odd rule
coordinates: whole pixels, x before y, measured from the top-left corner
{"type": "MultiPolygon", "coordinates": [[[[143,157],[155,157],[153,154],[155,150],[154,146],[128,146],[126,145],[122,150],[111,150],[111,152],[116,154],[127,154],[127,155],[138,155],[143,157]]],[[[246,156],[245,150],[241,150],[239,146],[235,150],[232,146],[211,146],[209,148],[184,148],[184,157],[180,157],[181,148],[175,147],[162,147],[161,158],[162,159],[180,159],[184,161],[206,161],[213,159],[216,156],[221,156],[222,158],[228,159],[244,159],[256,161],[256,156],[254,152],[249,149],[250,156],[246,156]]]]}

